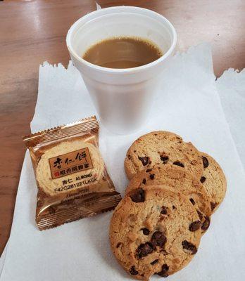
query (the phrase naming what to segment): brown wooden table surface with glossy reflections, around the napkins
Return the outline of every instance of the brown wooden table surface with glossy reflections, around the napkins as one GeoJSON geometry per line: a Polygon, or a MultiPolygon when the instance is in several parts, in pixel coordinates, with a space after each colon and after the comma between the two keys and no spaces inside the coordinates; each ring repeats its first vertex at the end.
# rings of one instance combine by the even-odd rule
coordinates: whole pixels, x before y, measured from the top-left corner
{"type": "MultiPolygon", "coordinates": [[[[108,6],[141,6],[168,18],[185,51],[203,41],[213,46],[213,67],[220,76],[229,67],[245,67],[245,1],[101,0],[108,6]]],[[[65,34],[92,0],[0,2],[0,254],[8,240],[25,147],[37,100],[39,64],[68,64],[65,34]]],[[[35,187],[33,187],[35,188],[35,187]]]]}

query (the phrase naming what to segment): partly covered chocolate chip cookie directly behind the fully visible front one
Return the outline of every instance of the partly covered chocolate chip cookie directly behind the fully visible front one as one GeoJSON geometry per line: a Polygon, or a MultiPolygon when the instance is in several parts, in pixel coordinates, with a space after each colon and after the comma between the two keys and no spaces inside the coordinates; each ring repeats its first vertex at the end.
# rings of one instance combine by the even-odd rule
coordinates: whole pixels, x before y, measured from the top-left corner
{"type": "Polygon", "coordinates": [[[127,186],[126,195],[135,188],[146,190],[153,185],[168,185],[177,192],[187,195],[199,214],[202,233],[206,232],[211,221],[211,198],[198,178],[179,166],[172,164],[156,165],[153,169],[140,171],[134,176],[127,186]]]}

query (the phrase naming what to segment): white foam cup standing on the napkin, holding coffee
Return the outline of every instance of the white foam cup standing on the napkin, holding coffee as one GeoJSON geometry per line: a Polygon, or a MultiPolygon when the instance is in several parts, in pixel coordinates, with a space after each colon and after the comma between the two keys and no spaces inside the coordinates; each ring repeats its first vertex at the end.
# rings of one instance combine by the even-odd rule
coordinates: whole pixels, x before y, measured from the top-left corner
{"type": "Polygon", "coordinates": [[[161,72],[175,49],[176,32],[171,23],[144,8],[104,8],[77,20],[66,42],[106,128],[123,134],[139,129],[149,115],[161,72]],[[90,46],[111,37],[149,39],[163,55],[147,65],[126,69],[100,67],[82,59],[90,46]]]}

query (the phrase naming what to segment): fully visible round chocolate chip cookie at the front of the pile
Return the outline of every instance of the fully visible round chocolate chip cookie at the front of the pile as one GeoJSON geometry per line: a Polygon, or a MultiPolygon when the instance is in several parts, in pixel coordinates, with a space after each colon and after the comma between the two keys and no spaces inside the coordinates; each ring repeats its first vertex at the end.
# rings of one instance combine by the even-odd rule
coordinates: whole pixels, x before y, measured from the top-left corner
{"type": "Polygon", "coordinates": [[[111,248],[132,277],[167,277],[191,261],[201,239],[201,221],[189,199],[171,188],[137,188],[116,207],[111,248]]]}

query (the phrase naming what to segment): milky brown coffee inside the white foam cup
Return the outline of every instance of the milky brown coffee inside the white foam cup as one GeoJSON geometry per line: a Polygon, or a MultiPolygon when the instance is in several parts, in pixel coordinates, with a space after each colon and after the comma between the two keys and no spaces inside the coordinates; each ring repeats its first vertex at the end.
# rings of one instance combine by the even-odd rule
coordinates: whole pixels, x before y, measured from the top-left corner
{"type": "Polygon", "coordinates": [[[162,55],[161,49],[149,40],[114,37],[94,44],[82,58],[102,67],[131,68],[152,63],[162,55]]]}

